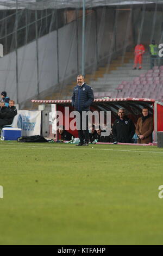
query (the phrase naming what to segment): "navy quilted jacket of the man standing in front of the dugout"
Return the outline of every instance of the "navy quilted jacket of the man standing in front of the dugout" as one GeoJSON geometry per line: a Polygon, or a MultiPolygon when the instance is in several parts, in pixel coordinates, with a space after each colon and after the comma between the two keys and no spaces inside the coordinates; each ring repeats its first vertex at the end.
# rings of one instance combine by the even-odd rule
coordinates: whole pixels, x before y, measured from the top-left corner
{"type": "Polygon", "coordinates": [[[93,89],[86,83],[82,87],[76,86],[73,89],[72,106],[76,111],[89,111],[94,100],[93,89]]]}

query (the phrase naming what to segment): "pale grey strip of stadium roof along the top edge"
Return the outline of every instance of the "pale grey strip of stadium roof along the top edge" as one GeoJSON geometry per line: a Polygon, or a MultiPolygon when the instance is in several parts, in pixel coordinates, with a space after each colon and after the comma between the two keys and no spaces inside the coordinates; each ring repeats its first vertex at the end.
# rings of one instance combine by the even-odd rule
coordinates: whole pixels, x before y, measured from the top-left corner
{"type": "MultiPolygon", "coordinates": [[[[163,0],[85,0],[86,8],[113,5],[161,4],[163,0]]],[[[62,9],[82,8],[83,0],[0,0],[0,9],[62,9]]]]}

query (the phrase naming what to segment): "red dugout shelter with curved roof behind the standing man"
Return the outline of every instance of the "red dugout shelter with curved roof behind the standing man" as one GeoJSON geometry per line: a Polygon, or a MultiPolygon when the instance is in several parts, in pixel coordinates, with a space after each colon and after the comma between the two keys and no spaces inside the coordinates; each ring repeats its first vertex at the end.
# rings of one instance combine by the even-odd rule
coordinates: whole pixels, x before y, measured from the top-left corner
{"type": "MultiPolygon", "coordinates": [[[[69,112],[74,109],[71,106],[71,100],[32,100],[33,103],[40,104],[55,104],[55,111],[61,111],[65,120],[65,107],[69,107],[69,112]]],[[[154,99],[145,98],[115,98],[109,99],[108,97],[102,99],[95,99],[91,105],[91,111],[110,111],[111,123],[117,118],[117,111],[119,108],[125,108],[127,116],[131,118],[136,125],[137,119],[141,116],[142,108],[147,106],[149,113],[154,117],[154,136],[153,142],[157,142],[157,132],[163,131],[163,102],[156,101],[154,99]]],[[[66,117],[69,118],[69,117],[66,117]]],[[[67,119],[66,119],[67,120],[67,119]]],[[[71,119],[69,118],[69,121],[71,119]]],[[[65,125],[64,123],[62,125],[65,125]]],[[[78,137],[77,130],[70,133],[78,137]]]]}

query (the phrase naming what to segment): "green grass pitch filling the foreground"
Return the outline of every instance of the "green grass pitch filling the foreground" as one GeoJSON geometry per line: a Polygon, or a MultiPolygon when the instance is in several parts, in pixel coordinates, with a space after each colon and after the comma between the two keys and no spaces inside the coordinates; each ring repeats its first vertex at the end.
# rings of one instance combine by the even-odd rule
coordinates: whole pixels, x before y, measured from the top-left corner
{"type": "Polygon", "coordinates": [[[163,149],[0,146],[1,245],[163,244],[163,149]]]}

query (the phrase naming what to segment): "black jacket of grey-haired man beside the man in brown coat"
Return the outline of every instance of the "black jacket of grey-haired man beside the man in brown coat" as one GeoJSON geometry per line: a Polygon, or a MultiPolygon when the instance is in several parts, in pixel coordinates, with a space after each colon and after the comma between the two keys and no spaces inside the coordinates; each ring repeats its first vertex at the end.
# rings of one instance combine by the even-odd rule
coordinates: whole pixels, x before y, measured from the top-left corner
{"type": "Polygon", "coordinates": [[[124,117],[123,121],[118,117],[112,126],[114,141],[117,142],[131,143],[134,133],[135,125],[128,117],[124,117]]]}

